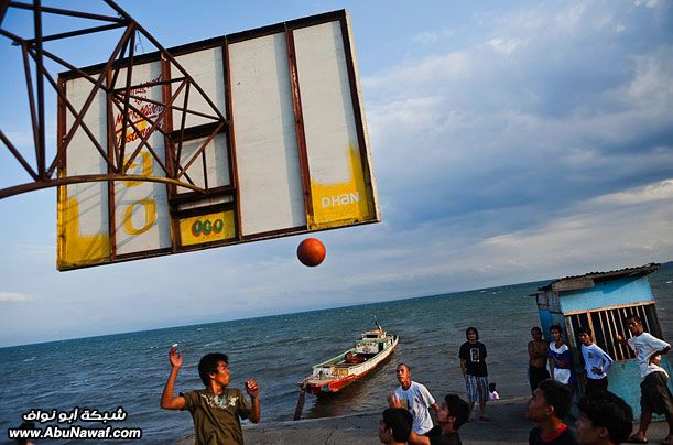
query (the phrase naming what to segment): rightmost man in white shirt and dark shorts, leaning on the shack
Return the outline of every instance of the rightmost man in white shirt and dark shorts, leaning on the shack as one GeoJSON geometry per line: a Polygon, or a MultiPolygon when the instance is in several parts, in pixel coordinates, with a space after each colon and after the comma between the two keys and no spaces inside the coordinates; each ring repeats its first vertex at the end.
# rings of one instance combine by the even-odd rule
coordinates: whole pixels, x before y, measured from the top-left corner
{"type": "Polygon", "coordinates": [[[669,422],[669,436],[662,444],[673,445],[673,395],[663,378],[664,373],[656,369],[659,367],[650,367],[650,358],[655,354],[669,352],[671,345],[645,333],[638,315],[627,317],[626,323],[632,337],[626,340],[622,336],[617,335],[615,340],[622,345],[628,344],[636,351],[640,369],[640,428],[629,438],[629,442],[637,444],[648,442],[647,432],[654,412],[664,414],[669,422]]]}

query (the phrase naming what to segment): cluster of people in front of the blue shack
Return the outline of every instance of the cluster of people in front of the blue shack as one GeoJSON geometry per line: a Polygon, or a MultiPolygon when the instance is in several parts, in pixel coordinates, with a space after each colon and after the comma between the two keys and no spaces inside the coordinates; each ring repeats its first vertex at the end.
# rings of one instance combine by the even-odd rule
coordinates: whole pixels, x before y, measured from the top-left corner
{"type": "Polygon", "coordinates": [[[647,431],[652,413],[658,413],[663,414],[669,424],[669,435],[662,444],[673,445],[673,395],[667,387],[669,375],[660,366],[661,355],[667,354],[671,345],[645,333],[638,315],[630,315],[625,322],[631,338],[627,340],[617,335],[615,343],[628,345],[638,360],[641,379],[641,417],[638,432],[630,435],[633,420],[631,408],[621,398],[608,391],[608,372],[614,360],[594,344],[591,330],[586,326],[577,329],[584,360],[584,397],[577,401],[579,379],[575,373],[573,352],[564,343],[563,329],[558,325],[551,326],[553,341],[547,345],[542,339],[542,329],[533,327],[533,339],[528,345],[529,381],[533,391],[528,417],[539,426],[531,432],[531,444],[647,444],[647,431]],[[538,400],[542,401],[543,406],[552,409],[543,412],[546,414],[540,414],[541,412],[535,410],[538,400]],[[555,409],[552,402],[556,404],[555,409]],[[560,433],[567,430],[563,419],[569,413],[573,403],[579,409],[579,419],[575,422],[576,437],[573,437],[569,431],[560,433]],[[588,417],[587,413],[591,413],[593,417],[588,417]],[[598,434],[598,426],[605,431],[604,436],[598,434]]]}

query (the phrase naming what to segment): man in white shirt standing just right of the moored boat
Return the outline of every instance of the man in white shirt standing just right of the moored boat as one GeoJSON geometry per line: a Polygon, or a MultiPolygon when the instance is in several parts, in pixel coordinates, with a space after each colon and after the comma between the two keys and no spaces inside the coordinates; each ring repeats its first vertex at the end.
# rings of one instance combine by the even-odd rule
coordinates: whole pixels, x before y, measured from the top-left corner
{"type": "Polygon", "coordinates": [[[398,365],[395,376],[400,387],[388,397],[391,408],[405,408],[413,417],[412,431],[416,434],[425,434],[433,427],[430,409],[435,413],[439,405],[435,402],[424,384],[411,380],[411,368],[406,363],[398,365]]]}

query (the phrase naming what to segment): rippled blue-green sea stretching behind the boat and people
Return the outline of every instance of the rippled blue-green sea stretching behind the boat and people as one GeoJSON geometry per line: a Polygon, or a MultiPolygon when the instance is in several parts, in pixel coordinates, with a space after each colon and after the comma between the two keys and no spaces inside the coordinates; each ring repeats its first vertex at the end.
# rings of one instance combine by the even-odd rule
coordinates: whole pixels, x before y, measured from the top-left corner
{"type": "MultiPolygon", "coordinates": [[[[400,361],[412,367],[412,379],[435,398],[464,394],[457,355],[468,326],[479,329],[488,348],[489,380],[497,383],[501,398],[528,395],[527,344],[530,328],[539,325],[535,300],[529,294],[549,281],[0,348],[0,428],[7,439],[8,428],[21,424],[22,414],[31,409],[112,412],[121,406],[126,420],[109,425],[141,428],[141,443],[187,436],[193,433],[189,414],[159,408],[170,371],[169,348],[175,343],[184,355],[176,392],[202,388],[199,358],[222,351],[229,355],[232,387],[257,379],[262,422],[287,421],[296,406],[297,382],[312,365],[351,347],[361,330],[373,327],[375,317],[386,330],[400,335],[392,358],[334,397],[307,394],[303,419],[383,410],[388,393],[398,384],[394,368],[400,361]]],[[[652,273],[650,283],[664,337],[671,341],[673,263],[652,273]]]]}

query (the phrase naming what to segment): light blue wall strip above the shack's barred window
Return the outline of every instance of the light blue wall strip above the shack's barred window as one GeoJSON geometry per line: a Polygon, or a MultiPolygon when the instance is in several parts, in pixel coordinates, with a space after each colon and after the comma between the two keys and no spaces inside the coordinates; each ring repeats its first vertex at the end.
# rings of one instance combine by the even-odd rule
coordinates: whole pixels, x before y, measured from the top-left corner
{"type": "Polygon", "coordinates": [[[647,276],[598,282],[594,287],[561,293],[561,312],[588,311],[619,304],[652,301],[647,276]]]}

